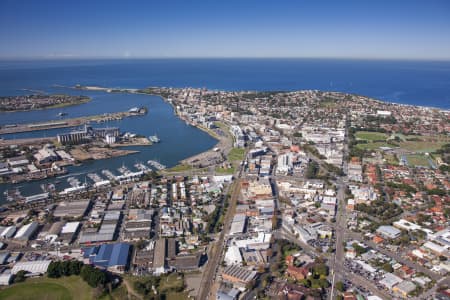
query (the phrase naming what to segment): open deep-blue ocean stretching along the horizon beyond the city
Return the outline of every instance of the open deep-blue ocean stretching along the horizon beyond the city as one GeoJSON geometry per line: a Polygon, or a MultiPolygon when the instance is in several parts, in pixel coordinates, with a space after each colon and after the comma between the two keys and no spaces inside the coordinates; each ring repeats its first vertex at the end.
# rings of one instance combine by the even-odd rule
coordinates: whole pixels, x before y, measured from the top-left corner
{"type": "Polygon", "coordinates": [[[318,89],[450,108],[449,61],[332,59],[129,59],[0,61],[0,94],[61,85],[318,89]]]}

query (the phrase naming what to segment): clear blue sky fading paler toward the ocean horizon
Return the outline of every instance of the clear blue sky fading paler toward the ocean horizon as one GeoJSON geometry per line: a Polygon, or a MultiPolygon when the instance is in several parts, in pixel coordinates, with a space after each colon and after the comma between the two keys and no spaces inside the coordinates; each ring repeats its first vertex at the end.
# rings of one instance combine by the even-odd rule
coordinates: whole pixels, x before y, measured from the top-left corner
{"type": "Polygon", "coordinates": [[[448,0],[0,0],[0,59],[450,60],[448,0]]]}

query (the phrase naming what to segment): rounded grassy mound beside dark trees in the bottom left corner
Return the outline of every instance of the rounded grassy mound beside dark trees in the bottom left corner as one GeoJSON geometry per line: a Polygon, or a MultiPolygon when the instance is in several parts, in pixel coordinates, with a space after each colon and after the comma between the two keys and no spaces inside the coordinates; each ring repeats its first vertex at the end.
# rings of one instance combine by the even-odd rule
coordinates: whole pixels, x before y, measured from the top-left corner
{"type": "Polygon", "coordinates": [[[0,291],[0,299],[93,299],[93,289],[79,276],[30,278],[0,291]]]}

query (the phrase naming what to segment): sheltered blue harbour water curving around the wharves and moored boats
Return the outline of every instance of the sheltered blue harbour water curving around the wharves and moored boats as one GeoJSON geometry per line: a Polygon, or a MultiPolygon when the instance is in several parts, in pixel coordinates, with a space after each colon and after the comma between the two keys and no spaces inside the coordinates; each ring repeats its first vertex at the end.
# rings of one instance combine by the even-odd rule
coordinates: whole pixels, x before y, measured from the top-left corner
{"type": "MultiPolygon", "coordinates": [[[[133,172],[139,171],[134,165],[144,163],[148,166],[148,160],[158,161],[166,166],[174,166],[178,161],[212,148],[216,140],[207,133],[187,125],[175,114],[172,106],[163,101],[160,97],[138,94],[111,94],[105,92],[74,91],[71,89],[59,89],[61,93],[80,93],[92,97],[92,101],[79,106],[64,108],[67,117],[82,116],[86,114],[101,114],[105,112],[117,112],[128,110],[133,106],[146,106],[148,113],[144,116],[124,118],[120,121],[112,121],[101,124],[93,124],[95,127],[117,126],[121,132],[133,132],[143,136],[154,135],[161,139],[161,142],[151,146],[126,147],[130,150],[140,151],[137,154],[116,157],[105,160],[87,161],[81,166],[69,166],[69,174],[62,178],[50,178],[35,182],[24,182],[17,185],[1,184],[0,197],[2,203],[5,201],[3,192],[13,186],[19,187],[22,195],[28,196],[41,193],[41,184],[54,183],[57,190],[62,190],[70,186],[67,179],[75,177],[81,183],[87,181],[93,183],[88,176],[95,173],[103,179],[108,179],[102,174],[102,170],[110,170],[114,175],[121,175],[118,171],[123,165],[133,172]]],[[[39,110],[31,112],[3,113],[0,114],[0,124],[12,124],[18,122],[42,121],[47,119],[57,119],[60,109],[39,110]]],[[[52,129],[45,131],[34,131],[20,134],[4,135],[5,139],[56,136],[59,132],[69,131],[70,128],[52,129]]],[[[73,180],[71,180],[73,181],[73,180]]]]}

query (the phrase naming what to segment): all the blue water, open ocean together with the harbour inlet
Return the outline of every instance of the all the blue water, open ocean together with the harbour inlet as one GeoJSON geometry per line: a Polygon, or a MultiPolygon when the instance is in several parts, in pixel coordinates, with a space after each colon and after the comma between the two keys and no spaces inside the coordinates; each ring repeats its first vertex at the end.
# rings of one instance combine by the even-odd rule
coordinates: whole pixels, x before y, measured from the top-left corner
{"type": "MultiPolygon", "coordinates": [[[[66,107],[68,117],[127,110],[147,106],[145,117],[127,118],[102,126],[119,126],[122,132],[158,134],[162,142],[151,147],[132,147],[140,153],[92,161],[69,167],[84,181],[86,173],[102,169],[117,173],[122,164],[133,169],[136,162],[157,159],[167,166],[210,149],[215,139],[178,119],[161,98],[148,95],[109,94],[79,91],[61,86],[98,85],[144,88],[148,86],[205,87],[219,90],[302,90],[317,89],[361,94],[376,99],[450,109],[450,62],[363,61],[318,59],[148,59],[148,60],[41,60],[0,61],[0,95],[46,93],[83,94],[92,101],[66,107]]],[[[0,113],[0,126],[57,119],[61,109],[0,113]]],[[[55,136],[70,129],[55,129],[4,138],[55,136]]],[[[57,188],[67,187],[61,180],[57,188]]],[[[39,193],[48,179],[19,184],[24,195],[39,193]]],[[[12,185],[0,185],[3,191],[12,185]]]]}

